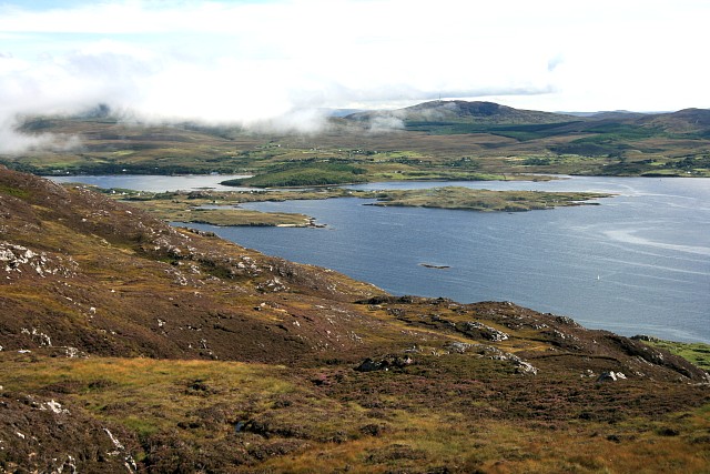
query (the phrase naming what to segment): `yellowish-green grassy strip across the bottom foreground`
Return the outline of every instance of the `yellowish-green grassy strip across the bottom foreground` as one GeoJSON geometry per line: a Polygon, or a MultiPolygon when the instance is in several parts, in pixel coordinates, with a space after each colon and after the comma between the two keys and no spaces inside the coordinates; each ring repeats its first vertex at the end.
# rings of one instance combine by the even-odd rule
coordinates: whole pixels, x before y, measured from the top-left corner
{"type": "MultiPolygon", "coordinates": [[[[463,409],[463,400],[397,395],[405,380],[434,383],[415,373],[17,353],[0,359],[6,394],[58,400],[74,415],[120,427],[135,440],[139,463],[175,472],[201,462],[221,472],[293,473],[700,473],[710,465],[710,405],[613,423],[510,420],[485,404],[471,416],[477,412],[463,409]],[[371,383],[379,395],[369,392],[371,383]],[[368,395],[358,396],[361,390],[368,395]],[[161,458],[156,443],[183,446],[180,460],[161,458]]],[[[426,365],[434,369],[436,361],[426,365]]]]}

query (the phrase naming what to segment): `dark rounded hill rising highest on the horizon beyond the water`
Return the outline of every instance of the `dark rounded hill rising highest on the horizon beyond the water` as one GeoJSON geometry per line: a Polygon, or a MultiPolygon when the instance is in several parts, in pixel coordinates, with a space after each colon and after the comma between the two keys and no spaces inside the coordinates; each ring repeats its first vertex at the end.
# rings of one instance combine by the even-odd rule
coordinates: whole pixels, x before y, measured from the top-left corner
{"type": "Polygon", "coordinates": [[[399,119],[405,122],[467,122],[467,123],[557,123],[580,120],[578,117],[535,110],[514,109],[495,102],[436,100],[404,109],[359,112],[348,120],[375,121],[399,119]]]}

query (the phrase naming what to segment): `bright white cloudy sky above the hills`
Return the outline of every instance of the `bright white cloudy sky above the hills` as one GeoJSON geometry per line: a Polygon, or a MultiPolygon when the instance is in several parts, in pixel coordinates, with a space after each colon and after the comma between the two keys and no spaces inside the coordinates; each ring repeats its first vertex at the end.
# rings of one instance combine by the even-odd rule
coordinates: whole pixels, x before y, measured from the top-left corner
{"type": "Polygon", "coordinates": [[[0,151],[24,117],[99,103],[303,131],[438,98],[707,109],[708,24],[707,0],[0,0],[0,151]]]}

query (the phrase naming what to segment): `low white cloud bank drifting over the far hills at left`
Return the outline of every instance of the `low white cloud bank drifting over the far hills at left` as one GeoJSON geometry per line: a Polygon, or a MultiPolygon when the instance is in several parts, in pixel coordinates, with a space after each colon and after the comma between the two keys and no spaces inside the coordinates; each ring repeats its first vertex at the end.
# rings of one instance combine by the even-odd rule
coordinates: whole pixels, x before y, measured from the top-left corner
{"type": "MultiPolygon", "coordinates": [[[[348,85],[337,74],[317,81],[311,74],[307,68],[290,69],[280,62],[185,59],[108,41],[36,62],[0,57],[0,153],[65,148],[71,143],[49,134],[23,134],[18,127],[28,117],[81,114],[99,103],[128,122],[192,121],[314,133],[325,124],[323,110],[333,105],[406,105],[436,94],[389,84],[385,78],[348,85]]],[[[526,92],[540,91],[545,89],[526,92]]]]}

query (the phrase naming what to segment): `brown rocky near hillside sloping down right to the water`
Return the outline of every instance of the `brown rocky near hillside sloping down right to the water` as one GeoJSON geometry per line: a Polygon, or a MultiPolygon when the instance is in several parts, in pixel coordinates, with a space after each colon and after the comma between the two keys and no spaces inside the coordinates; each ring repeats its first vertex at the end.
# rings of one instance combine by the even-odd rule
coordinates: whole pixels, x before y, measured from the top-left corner
{"type": "Polygon", "coordinates": [[[707,471],[710,377],[640,341],[1,168],[0,215],[1,472],[707,471]]]}

